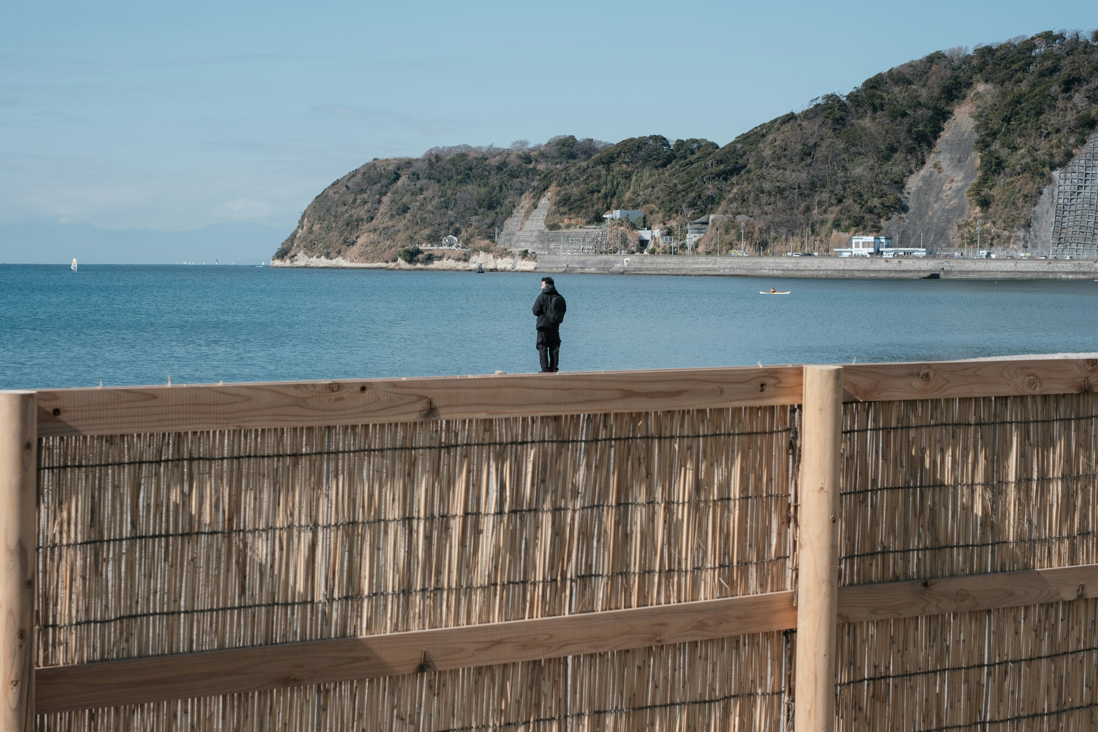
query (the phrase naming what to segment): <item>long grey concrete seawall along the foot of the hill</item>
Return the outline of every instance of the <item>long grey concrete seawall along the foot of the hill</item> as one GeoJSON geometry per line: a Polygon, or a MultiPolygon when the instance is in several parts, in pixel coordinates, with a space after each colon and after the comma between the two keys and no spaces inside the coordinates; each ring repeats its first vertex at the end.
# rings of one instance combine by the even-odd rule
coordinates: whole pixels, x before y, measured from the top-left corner
{"type": "Polygon", "coordinates": [[[918,280],[1098,280],[1095,260],[541,255],[537,272],[918,280]]]}

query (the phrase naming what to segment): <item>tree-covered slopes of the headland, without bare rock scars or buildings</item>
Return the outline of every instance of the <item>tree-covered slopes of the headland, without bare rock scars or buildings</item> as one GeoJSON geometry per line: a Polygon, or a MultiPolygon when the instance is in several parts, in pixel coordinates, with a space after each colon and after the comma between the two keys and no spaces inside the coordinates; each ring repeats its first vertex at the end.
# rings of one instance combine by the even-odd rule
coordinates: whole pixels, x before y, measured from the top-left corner
{"type": "Polygon", "coordinates": [[[649,226],[664,227],[744,214],[748,244],[763,249],[832,230],[873,233],[906,213],[907,181],[963,102],[979,156],[968,218],[982,217],[1001,241],[1023,237],[1051,172],[1098,125],[1098,32],[935,52],[724,147],[658,135],[606,147],[560,137],[376,160],[317,196],[276,257],[379,261],[445,234],[486,244],[524,195],[546,192],[550,228],[618,207],[641,209],[649,226]]]}

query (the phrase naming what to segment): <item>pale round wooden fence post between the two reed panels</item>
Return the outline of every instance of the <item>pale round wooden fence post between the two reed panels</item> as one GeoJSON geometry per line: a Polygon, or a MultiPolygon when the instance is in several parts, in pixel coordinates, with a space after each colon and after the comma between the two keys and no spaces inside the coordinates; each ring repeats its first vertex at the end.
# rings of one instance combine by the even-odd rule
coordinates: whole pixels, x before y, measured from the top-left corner
{"type": "Polygon", "coordinates": [[[803,415],[794,729],[832,732],[842,367],[805,367],[803,415]]]}

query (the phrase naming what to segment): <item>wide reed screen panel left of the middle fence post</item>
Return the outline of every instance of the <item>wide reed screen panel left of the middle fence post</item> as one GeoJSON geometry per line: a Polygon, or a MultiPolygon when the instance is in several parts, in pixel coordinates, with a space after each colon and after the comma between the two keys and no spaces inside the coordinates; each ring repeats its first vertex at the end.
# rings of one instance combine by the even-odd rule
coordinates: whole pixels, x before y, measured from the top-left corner
{"type": "MultiPolygon", "coordinates": [[[[38,665],[787,589],[796,439],[796,407],[43,438],[38,665]]],[[[792,657],[777,632],[38,725],[776,730],[792,657]]]]}

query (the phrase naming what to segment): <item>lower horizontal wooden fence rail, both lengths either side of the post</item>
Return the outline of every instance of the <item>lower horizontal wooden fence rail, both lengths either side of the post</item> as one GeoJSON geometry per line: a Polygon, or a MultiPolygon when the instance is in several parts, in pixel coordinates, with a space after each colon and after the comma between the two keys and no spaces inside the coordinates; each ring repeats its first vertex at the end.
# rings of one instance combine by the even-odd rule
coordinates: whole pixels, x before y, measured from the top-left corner
{"type": "MultiPolygon", "coordinates": [[[[839,622],[1098,597],[1098,564],[839,589],[839,622]]],[[[38,713],[448,671],[795,628],[793,593],[40,668],[38,713]]]]}

